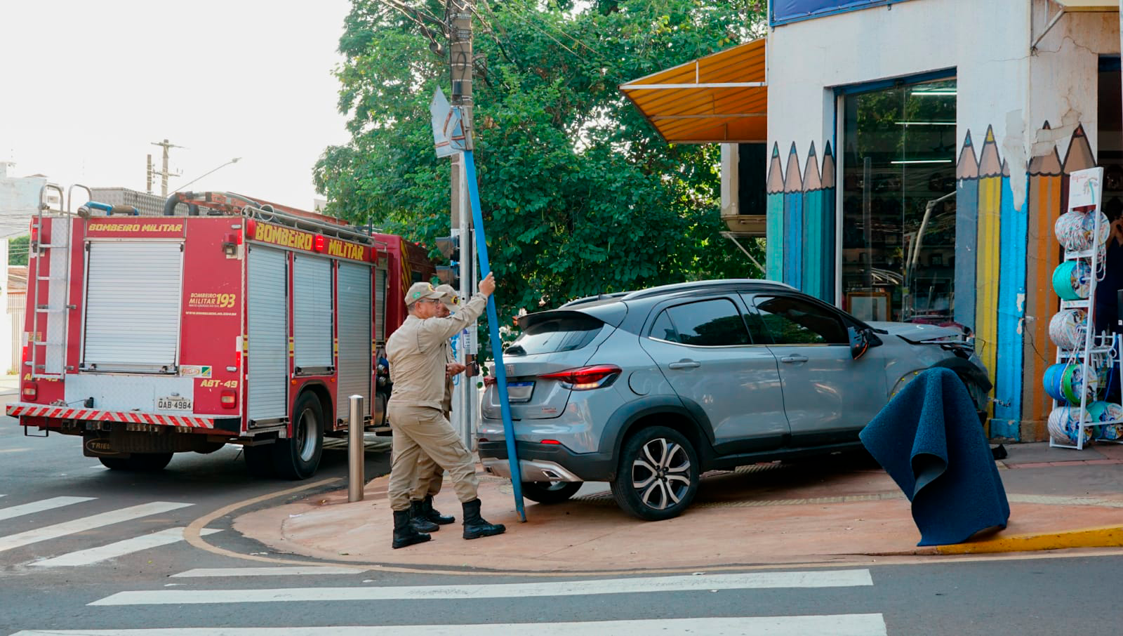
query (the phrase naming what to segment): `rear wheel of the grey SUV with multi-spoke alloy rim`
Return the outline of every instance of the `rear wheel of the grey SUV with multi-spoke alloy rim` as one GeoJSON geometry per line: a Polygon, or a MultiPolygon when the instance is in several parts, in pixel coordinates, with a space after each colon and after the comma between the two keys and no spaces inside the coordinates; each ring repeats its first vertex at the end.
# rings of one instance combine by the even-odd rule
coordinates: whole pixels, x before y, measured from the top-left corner
{"type": "Polygon", "coordinates": [[[677,517],[697,493],[697,453],[673,428],[642,428],[624,440],[611,485],[626,512],[648,521],[677,517]]]}

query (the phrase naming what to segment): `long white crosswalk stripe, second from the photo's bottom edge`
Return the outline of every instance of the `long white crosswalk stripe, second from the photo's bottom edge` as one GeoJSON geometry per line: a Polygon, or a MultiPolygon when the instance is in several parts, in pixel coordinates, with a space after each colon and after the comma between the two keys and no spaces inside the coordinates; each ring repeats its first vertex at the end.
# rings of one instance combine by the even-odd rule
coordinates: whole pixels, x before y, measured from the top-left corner
{"type": "Polygon", "coordinates": [[[588,581],[550,581],[546,583],[496,583],[484,585],[130,591],[118,592],[93,601],[90,605],[495,599],[678,592],[688,590],[837,588],[873,584],[874,581],[869,576],[869,570],[824,570],[812,572],[750,572],[745,574],[701,574],[697,576],[596,579],[588,581]]]}

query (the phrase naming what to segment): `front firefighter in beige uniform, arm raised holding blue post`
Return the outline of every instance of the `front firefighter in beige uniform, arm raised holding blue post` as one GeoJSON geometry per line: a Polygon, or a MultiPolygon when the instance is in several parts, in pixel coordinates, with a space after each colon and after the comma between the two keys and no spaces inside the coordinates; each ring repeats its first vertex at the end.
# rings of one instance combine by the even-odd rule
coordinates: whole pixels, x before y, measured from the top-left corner
{"type": "Polygon", "coordinates": [[[429,283],[414,283],[405,293],[410,315],[386,340],[386,356],[394,383],[386,411],[394,427],[387,496],[394,511],[392,546],[395,548],[430,538],[410,523],[410,488],[422,453],[448,471],[453,480],[456,497],[464,507],[464,538],[497,535],[506,529],[501,524],[489,524],[480,516],[480,499],[476,497],[480,481],[472,454],[441,412],[448,338],[483,314],[487,297],[493,291],[495,280],[489,274],[480,281],[480,293],[459,312],[449,318],[437,318],[437,306],[444,294],[429,283]]]}

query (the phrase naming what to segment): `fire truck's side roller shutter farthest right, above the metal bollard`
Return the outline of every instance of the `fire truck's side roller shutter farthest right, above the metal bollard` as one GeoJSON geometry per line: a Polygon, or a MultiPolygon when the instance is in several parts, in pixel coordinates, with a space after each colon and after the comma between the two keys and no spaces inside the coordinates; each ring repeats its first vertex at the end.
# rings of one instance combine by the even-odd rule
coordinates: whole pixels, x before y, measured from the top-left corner
{"type": "Polygon", "coordinates": [[[371,267],[339,263],[339,369],[336,417],[350,416],[348,398],[363,396],[363,414],[371,414],[371,267]]]}

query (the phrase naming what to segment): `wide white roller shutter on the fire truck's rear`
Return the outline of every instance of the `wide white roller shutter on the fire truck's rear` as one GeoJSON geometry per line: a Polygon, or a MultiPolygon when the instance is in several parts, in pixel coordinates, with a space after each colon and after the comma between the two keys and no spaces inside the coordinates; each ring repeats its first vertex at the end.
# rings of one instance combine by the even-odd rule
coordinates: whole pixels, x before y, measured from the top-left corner
{"type": "Polygon", "coordinates": [[[180,243],[90,243],[85,369],[175,372],[182,262],[180,243]]]}

